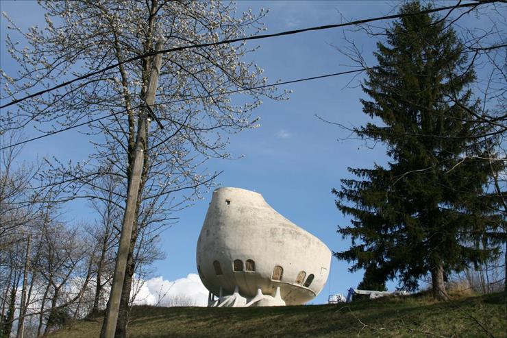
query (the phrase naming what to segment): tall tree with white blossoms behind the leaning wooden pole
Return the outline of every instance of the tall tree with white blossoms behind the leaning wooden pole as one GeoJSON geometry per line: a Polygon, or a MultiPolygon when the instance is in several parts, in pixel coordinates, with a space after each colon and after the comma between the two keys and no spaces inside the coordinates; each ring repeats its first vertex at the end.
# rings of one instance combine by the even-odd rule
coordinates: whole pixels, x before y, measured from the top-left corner
{"type": "MultiPolygon", "coordinates": [[[[236,16],[234,5],[219,1],[82,0],[41,5],[47,13],[45,30],[34,28],[25,33],[12,23],[28,47],[19,48],[8,38],[8,49],[21,71],[12,77],[4,75],[8,87],[2,99],[97,71],[105,64],[144,56],[159,38],[164,38],[167,47],[177,47],[257,34],[265,14],[236,16]]],[[[203,163],[230,157],[224,134],[255,127],[251,111],[262,103],[262,97],[281,98],[272,87],[253,89],[267,83],[260,67],[243,61],[254,49],[238,43],[164,55],[156,102],[150,107],[151,118],[158,117],[164,129],[147,130],[143,144],[145,158],[130,256],[145,218],[141,210],[147,210],[148,223],[171,223],[171,214],[190,205],[217,177],[217,173],[207,173],[203,163]],[[231,92],[238,91],[243,95],[233,97],[231,92]]],[[[49,122],[66,128],[90,121],[85,133],[95,146],[90,158],[75,165],[49,163],[49,172],[66,184],[66,198],[101,198],[103,188],[96,178],[106,173],[121,178],[121,197],[126,198],[136,137],[143,132],[139,128],[145,128],[140,112],[146,104],[151,60],[121,64],[60,91],[23,101],[7,112],[5,123],[12,129],[27,123],[43,128],[49,122]],[[92,193],[84,187],[92,188],[92,193]]],[[[130,262],[129,258],[127,276],[133,271],[130,262]]],[[[124,307],[129,285],[125,278],[124,307]]],[[[120,336],[125,335],[126,323],[123,315],[120,336]]]]}

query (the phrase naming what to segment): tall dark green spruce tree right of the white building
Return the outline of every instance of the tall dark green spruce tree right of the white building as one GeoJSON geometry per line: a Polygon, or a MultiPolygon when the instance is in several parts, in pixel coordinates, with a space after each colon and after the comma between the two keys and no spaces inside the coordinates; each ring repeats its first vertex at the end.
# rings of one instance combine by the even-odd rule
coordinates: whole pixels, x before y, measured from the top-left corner
{"type": "MultiPolygon", "coordinates": [[[[400,12],[422,7],[405,3],[400,12]]],[[[414,290],[430,274],[434,298],[445,300],[447,274],[498,254],[487,234],[502,217],[491,211],[491,167],[480,159],[489,157],[491,140],[475,117],[480,102],[473,100],[475,73],[464,51],[454,29],[430,14],[399,19],[378,43],[380,67],[362,84],[371,98],[362,100],[363,112],[375,122],[356,134],[384,143],[389,162],[349,168],[356,179],[333,189],[336,206],[352,219],[338,228],[351,248],[335,255],[354,262],[352,271],[367,269],[369,284],[398,278],[414,290]]]]}

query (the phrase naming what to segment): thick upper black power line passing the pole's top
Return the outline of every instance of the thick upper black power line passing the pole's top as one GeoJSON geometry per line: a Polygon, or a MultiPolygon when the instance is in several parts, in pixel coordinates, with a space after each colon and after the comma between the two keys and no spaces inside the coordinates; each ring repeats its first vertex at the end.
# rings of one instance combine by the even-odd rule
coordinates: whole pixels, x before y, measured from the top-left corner
{"type": "Polygon", "coordinates": [[[399,19],[399,18],[404,18],[406,16],[414,16],[414,15],[419,15],[419,14],[429,14],[429,13],[434,13],[434,12],[441,12],[443,10],[454,10],[456,8],[465,8],[465,7],[477,7],[478,5],[484,5],[486,3],[495,3],[495,2],[498,2],[498,1],[499,0],[487,0],[487,1],[480,1],[480,2],[474,2],[474,3],[462,3],[462,4],[458,3],[457,5],[453,5],[453,6],[447,6],[447,7],[441,7],[441,8],[433,8],[433,9],[423,10],[421,12],[415,12],[415,13],[405,13],[405,14],[393,14],[393,15],[388,15],[388,16],[378,16],[378,17],[371,18],[371,19],[362,19],[362,20],[350,21],[348,23],[338,23],[338,24],[334,24],[334,25],[323,25],[323,26],[316,26],[316,27],[307,27],[307,28],[294,29],[294,30],[285,31],[285,32],[278,32],[278,33],[274,33],[274,34],[261,34],[261,35],[257,35],[257,36],[247,36],[247,37],[243,37],[243,38],[234,38],[234,39],[230,39],[230,40],[222,40],[222,41],[217,41],[216,43],[200,43],[200,44],[197,44],[197,45],[187,45],[187,46],[181,46],[181,47],[175,47],[175,48],[169,48],[169,49],[162,49],[161,51],[151,51],[149,53],[143,54],[142,56],[135,56],[133,58],[129,58],[127,60],[123,60],[123,61],[118,62],[116,64],[112,64],[112,65],[110,65],[108,67],[105,67],[103,69],[99,69],[98,71],[94,71],[92,73],[87,73],[85,75],[82,75],[82,76],[79,76],[79,77],[75,77],[73,80],[62,82],[61,84],[58,84],[57,86],[53,86],[53,87],[47,88],[45,90],[40,90],[40,91],[38,91],[38,92],[36,92],[34,94],[30,94],[30,95],[27,95],[25,97],[21,97],[21,99],[14,99],[13,101],[10,101],[8,104],[4,104],[3,106],[0,106],[0,109],[1,108],[6,108],[8,106],[12,106],[14,104],[18,104],[21,101],[25,101],[26,99],[30,99],[32,97],[36,97],[36,96],[39,96],[39,95],[42,95],[42,94],[45,94],[45,93],[49,93],[49,92],[51,92],[51,91],[53,91],[55,89],[62,88],[64,86],[68,86],[69,84],[72,84],[73,82],[77,82],[77,81],[80,81],[80,80],[84,80],[84,79],[86,79],[88,77],[91,77],[91,76],[94,76],[94,75],[98,75],[100,73],[103,73],[104,71],[108,71],[110,69],[114,69],[116,67],[119,67],[121,64],[125,64],[125,63],[136,61],[136,60],[140,60],[140,59],[143,59],[143,58],[147,58],[149,56],[154,56],[154,55],[156,55],[158,53],[170,53],[172,51],[182,51],[184,49],[210,47],[210,46],[216,46],[216,45],[226,45],[226,44],[237,43],[239,41],[246,41],[246,40],[259,40],[259,39],[263,39],[263,38],[274,38],[274,37],[277,37],[277,36],[286,36],[286,35],[299,34],[299,33],[303,33],[303,32],[311,32],[311,31],[317,31],[317,30],[323,30],[323,29],[332,29],[332,28],[338,28],[338,27],[346,27],[346,26],[349,26],[349,25],[361,25],[363,23],[371,23],[373,21],[399,19]]]}

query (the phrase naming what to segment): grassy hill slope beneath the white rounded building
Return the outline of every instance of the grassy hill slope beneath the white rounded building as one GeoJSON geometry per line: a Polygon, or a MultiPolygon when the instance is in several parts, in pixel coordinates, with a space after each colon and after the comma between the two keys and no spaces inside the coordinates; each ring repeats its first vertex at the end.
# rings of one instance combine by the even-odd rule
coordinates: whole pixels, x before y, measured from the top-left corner
{"type": "MultiPolygon", "coordinates": [[[[506,337],[506,295],[243,309],[135,306],[129,337],[506,337]]],[[[50,337],[98,337],[100,327],[101,318],[85,319],[50,337]]]]}

